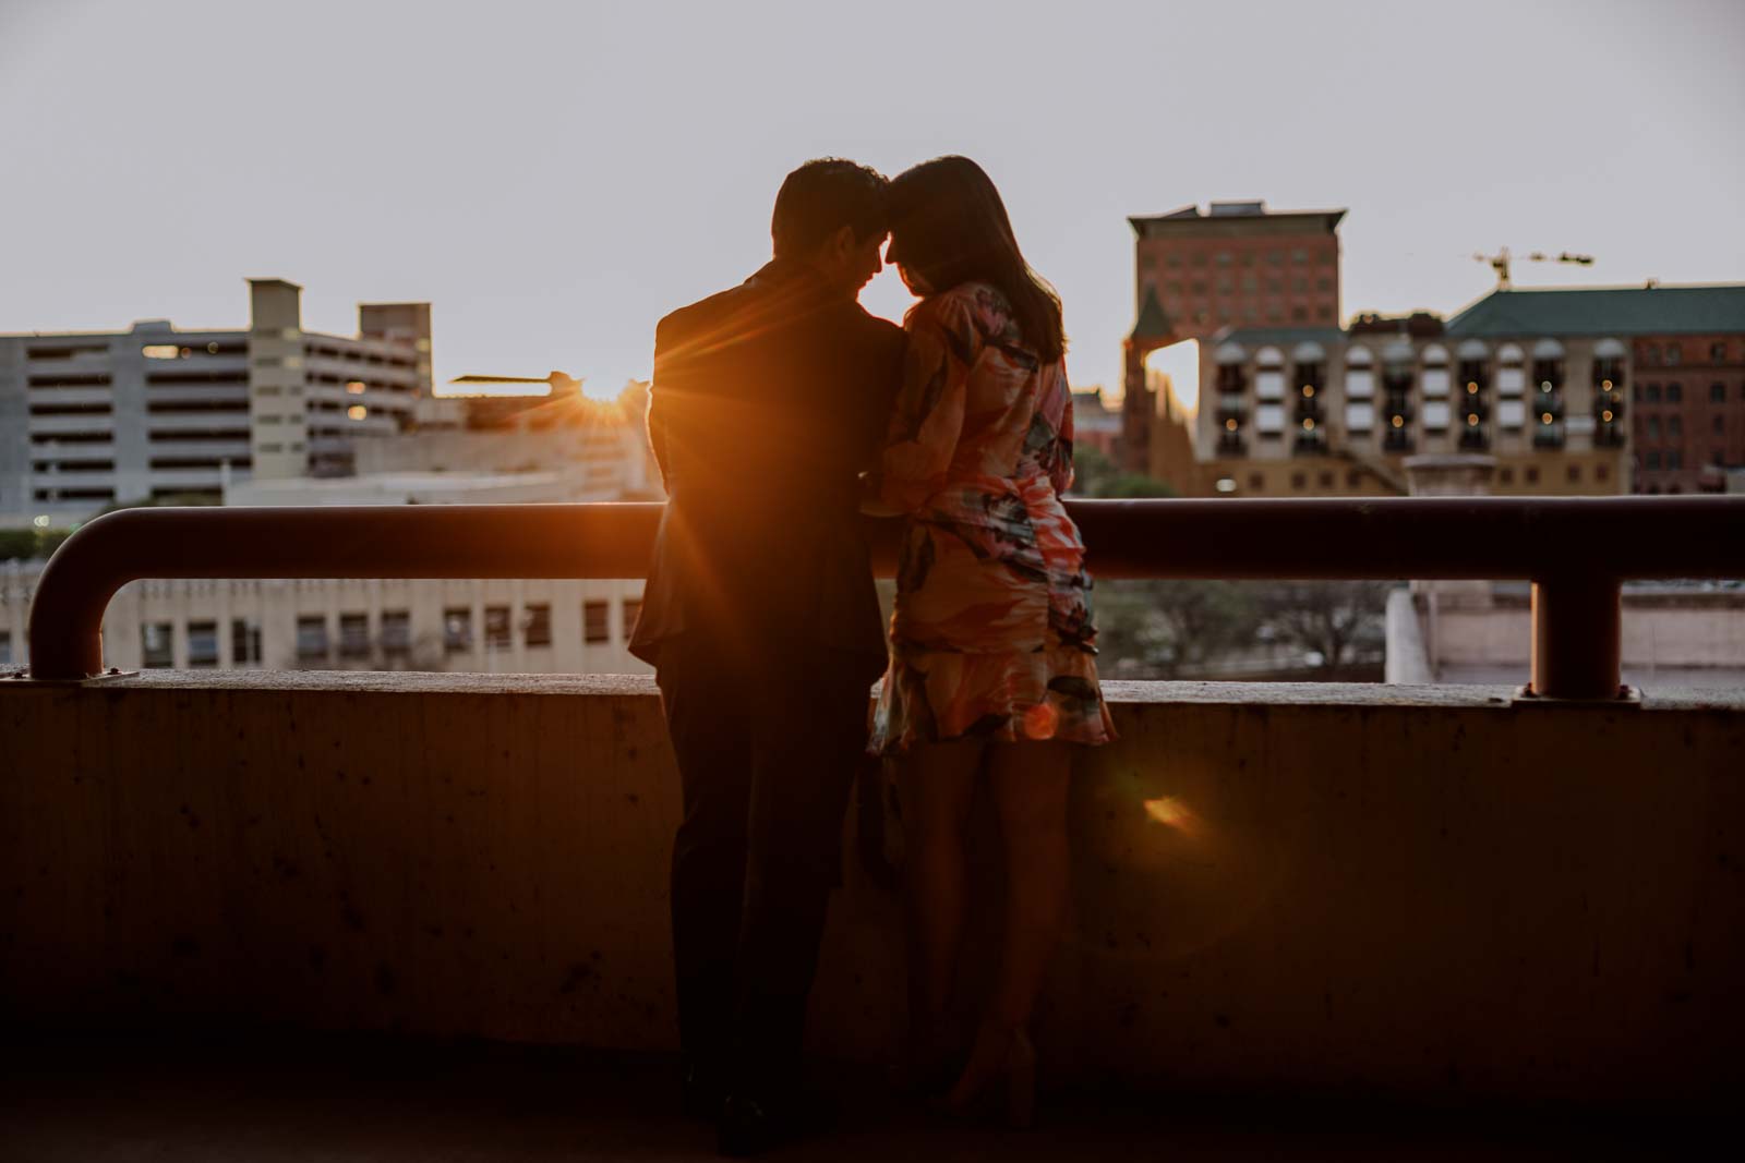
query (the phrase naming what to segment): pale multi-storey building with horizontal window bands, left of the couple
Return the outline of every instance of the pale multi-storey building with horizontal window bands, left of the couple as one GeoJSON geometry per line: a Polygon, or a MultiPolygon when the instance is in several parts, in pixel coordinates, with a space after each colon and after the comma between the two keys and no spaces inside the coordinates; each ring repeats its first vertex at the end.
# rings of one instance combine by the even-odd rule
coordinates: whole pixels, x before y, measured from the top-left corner
{"type": "Polygon", "coordinates": [[[0,525],[105,506],[218,500],[223,476],[352,471],[431,391],[429,303],[363,303],[358,335],[302,330],[300,288],[250,281],[246,330],[147,321],[0,337],[0,525]]]}

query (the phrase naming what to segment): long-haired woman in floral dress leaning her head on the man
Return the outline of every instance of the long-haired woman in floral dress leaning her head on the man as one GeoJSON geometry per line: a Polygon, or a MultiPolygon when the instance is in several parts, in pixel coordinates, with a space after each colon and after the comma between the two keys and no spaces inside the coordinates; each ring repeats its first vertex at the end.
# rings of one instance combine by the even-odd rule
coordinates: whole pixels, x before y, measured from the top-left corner
{"type": "Polygon", "coordinates": [[[1005,1085],[1030,1121],[1028,1024],[1066,905],[1075,745],[1113,738],[1098,689],[1073,478],[1061,305],[1028,267],[1000,194],[965,157],[890,187],[888,262],[921,296],[879,497],[909,514],[890,668],[871,748],[900,755],[911,1058],[949,1058],[946,1008],[965,914],[963,833],[986,772],[1007,868],[1005,936],[967,1065],[963,1111],[1005,1085]]]}

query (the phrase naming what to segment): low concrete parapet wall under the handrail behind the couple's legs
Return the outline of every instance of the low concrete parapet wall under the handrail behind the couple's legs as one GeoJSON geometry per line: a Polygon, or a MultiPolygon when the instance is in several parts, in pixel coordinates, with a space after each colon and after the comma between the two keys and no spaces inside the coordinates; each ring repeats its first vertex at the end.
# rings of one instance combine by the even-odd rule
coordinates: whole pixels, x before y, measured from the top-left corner
{"type": "MultiPolygon", "coordinates": [[[[1637,1104],[1738,1081],[1745,694],[1108,690],[1122,739],[1075,785],[1038,1018],[1056,1078],[1637,1104]]],[[[0,1020],[674,1044],[679,792],[646,678],[12,680],[0,769],[0,1020]]],[[[899,908],[846,881],[813,1036],[878,1060],[899,908]]]]}

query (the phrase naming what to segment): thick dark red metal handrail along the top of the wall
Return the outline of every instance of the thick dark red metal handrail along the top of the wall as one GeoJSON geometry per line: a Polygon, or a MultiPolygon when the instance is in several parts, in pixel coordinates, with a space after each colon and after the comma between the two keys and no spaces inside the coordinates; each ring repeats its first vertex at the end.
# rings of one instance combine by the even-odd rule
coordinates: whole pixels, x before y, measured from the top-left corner
{"type": "MultiPolygon", "coordinates": [[[[1530,581],[1532,690],[1616,697],[1619,584],[1745,575],[1745,497],[1068,500],[1098,577],[1530,581]]],[[[122,509],[68,537],[30,610],[31,677],[103,670],[147,577],[644,577],[661,504],[122,509]]],[[[895,521],[869,520],[874,570],[895,521]]]]}

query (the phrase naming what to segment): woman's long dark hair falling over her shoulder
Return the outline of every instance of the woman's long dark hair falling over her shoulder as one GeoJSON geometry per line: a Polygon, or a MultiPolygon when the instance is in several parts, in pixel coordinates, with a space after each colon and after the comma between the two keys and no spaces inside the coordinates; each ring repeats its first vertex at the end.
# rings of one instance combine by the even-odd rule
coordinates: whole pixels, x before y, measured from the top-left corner
{"type": "Polygon", "coordinates": [[[1024,343],[1044,363],[1066,350],[1061,298],[1030,269],[993,180],[967,157],[935,157],[890,183],[890,241],[897,262],[935,291],[988,282],[1012,305],[1024,343]]]}

